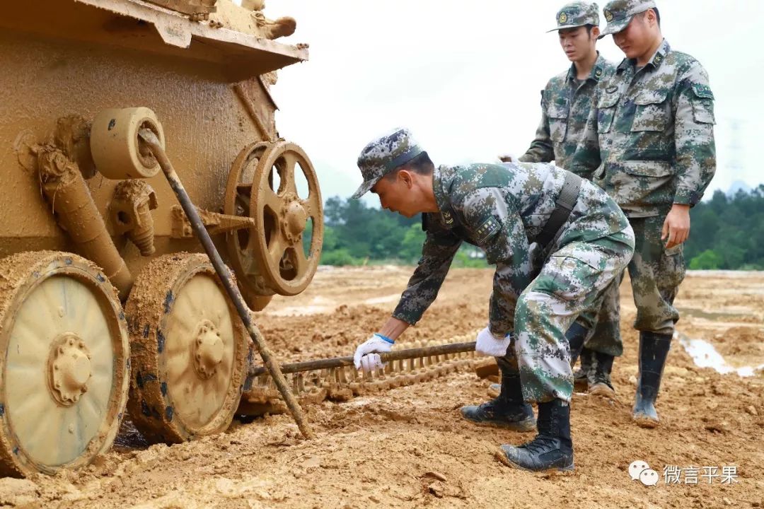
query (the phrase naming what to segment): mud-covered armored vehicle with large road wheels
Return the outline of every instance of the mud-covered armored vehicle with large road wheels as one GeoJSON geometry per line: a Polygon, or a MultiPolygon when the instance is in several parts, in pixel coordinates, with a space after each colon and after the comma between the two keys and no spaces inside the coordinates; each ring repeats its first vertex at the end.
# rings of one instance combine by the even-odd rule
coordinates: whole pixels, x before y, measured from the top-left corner
{"type": "Polygon", "coordinates": [[[219,433],[238,407],[249,337],[139,129],[250,308],[311,281],[319,183],[270,95],[307,49],[275,41],[295,21],[262,7],[3,2],[0,474],[86,465],[125,412],[173,443],[219,433]]]}

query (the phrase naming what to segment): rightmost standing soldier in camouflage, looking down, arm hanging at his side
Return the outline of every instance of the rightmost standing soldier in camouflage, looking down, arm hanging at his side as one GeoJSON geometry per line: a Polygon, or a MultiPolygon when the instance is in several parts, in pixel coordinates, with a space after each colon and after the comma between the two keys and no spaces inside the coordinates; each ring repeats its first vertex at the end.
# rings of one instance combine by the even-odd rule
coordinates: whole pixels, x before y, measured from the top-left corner
{"type": "Polygon", "coordinates": [[[685,277],[689,209],[716,170],[714,94],[698,60],[663,38],[656,2],[613,0],[604,16],[602,37],[613,34],[626,58],[604,84],[591,118],[602,159],[593,180],[617,201],[636,234],[629,264],[639,330],[633,417],[655,427],[655,402],[679,318],[673,302],[685,277]]]}

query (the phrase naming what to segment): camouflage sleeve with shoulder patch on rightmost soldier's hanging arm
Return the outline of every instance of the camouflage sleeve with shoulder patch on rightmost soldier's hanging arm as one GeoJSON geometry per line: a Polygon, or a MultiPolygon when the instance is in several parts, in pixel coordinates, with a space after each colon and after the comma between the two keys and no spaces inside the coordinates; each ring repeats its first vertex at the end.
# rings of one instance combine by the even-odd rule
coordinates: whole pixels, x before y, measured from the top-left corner
{"type": "Polygon", "coordinates": [[[679,81],[675,118],[678,185],[674,203],[696,205],[716,172],[714,94],[700,64],[679,81]]]}

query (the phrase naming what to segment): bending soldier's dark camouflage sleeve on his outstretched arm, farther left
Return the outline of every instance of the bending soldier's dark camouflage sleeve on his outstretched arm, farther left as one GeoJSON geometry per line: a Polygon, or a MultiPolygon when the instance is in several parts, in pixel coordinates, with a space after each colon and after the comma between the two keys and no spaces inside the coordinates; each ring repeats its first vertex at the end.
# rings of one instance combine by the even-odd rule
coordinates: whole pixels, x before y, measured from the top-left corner
{"type": "Polygon", "coordinates": [[[409,285],[400,296],[393,317],[407,324],[416,324],[438,296],[452,260],[461,245],[461,239],[452,232],[432,224],[427,229],[422,257],[414,270],[409,285]]]}

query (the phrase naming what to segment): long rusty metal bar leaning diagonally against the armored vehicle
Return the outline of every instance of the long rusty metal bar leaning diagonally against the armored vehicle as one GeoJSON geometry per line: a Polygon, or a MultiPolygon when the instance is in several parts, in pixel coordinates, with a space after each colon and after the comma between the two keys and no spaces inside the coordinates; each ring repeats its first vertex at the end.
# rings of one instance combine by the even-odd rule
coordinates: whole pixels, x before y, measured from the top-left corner
{"type": "Polygon", "coordinates": [[[307,439],[313,438],[313,432],[308,426],[305,414],[303,414],[303,409],[299,407],[299,403],[297,403],[292,391],[290,391],[290,388],[286,385],[286,379],[284,379],[284,375],[279,369],[279,365],[276,362],[276,359],[274,359],[273,353],[270,352],[267,343],[265,343],[265,338],[260,330],[257,329],[257,326],[252,322],[250,317],[251,311],[247,307],[247,304],[244,303],[244,298],[241,296],[241,292],[239,292],[238,286],[233,280],[230,269],[223,263],[220,253],[218,253],[218,250],[212,243],[212,239],[209,237],[209,233],[204,227],[202,219],[196,211],[196,207],[193,205],[188,193],[186,193],[186,188],[183,188],[183,184],[180,182],[180,178],[173,169],[173,165],[170,163],[170,159],[167,158],[167,154],[160,145],[157,136],[151,130],[141,129],[138,130],[138,137],[146,143],[147,147],[151,150],[151,153],[157,158],[159,166],[167,177],[167,182],[169,182],[170,187],[173,188],[173,192],[175,192],[178,201],[180,201],[180,206],[183,207],[183,211],[186,212],[186,217],[189,218],[194,234],[196,234],[199,242],[202,243],[207,256],[209,256],[209,259],[212,262],[212,266],[215,267],[215,272],[218,273],[218,277],[222,282],[223,288],[225,288],[225,292],[228,293],[228,297],[233,301],[236,311],[238,311],[238,314],[241,317],[241,321],[244,322],[244,327],[247,327],[247,331],[252,338],[252,341],[257,346],[257,351],[260,353],[263,363],[267,366],[270,377],[274,379],[281,397],[286,402],[286,406],[289,407],[290,413],[297,423],[297,427],[299,427],[300,432],[303,433],[303,437],[306,437],[307,439]]]}

